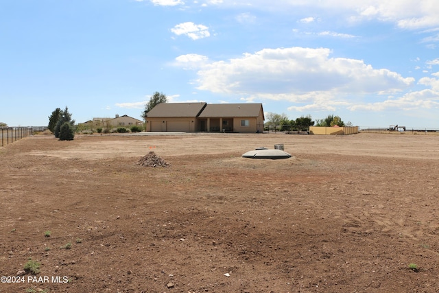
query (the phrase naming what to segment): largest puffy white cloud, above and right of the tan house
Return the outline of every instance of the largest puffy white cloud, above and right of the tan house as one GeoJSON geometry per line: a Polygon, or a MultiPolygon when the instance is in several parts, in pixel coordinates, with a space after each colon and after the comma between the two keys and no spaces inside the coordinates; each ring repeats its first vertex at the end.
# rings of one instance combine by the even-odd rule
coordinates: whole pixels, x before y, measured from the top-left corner
{"type": "Polygon", "coordinates": [[[373,69],[361,60],[330,58],[330,54],[325,48],[292,47],[211,62],[198,71],[198,89],[312,102],[320,95],[394,93],[414,82],[388,69],[373,69]]]}

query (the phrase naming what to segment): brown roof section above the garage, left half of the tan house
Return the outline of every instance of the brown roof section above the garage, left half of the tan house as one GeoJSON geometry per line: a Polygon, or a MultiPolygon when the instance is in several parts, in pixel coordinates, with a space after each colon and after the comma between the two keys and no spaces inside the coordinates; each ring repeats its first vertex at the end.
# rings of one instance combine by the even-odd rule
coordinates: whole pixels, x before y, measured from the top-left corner
{"type": "Polygon", "coordinates": [[[147,117],[197,117],[205,106],[205,102],[161,103],[152,108],[147,117]]]}

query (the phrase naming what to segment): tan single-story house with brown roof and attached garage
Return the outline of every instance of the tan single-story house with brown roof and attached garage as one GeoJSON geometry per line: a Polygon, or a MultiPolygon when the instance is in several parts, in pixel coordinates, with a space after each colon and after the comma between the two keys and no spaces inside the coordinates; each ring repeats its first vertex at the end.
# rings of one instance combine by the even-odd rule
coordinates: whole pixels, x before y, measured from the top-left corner
{"type": "Polygon", "coordinates": [[[263,132],[262,104],[161,103],[147,113],[146,131],[263,132]]]}

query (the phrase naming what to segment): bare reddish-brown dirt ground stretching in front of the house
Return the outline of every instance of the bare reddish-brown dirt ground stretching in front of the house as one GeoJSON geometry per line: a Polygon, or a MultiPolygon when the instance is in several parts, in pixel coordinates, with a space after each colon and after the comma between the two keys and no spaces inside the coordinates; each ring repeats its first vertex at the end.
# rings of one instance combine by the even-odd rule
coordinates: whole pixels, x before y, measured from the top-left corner
{"type": "Polygon", "coordinates": [[[438,135],[36,135],[0,148],[0,276],[40,272],[0,292],[438,292],[438,178],[438,135]]]}

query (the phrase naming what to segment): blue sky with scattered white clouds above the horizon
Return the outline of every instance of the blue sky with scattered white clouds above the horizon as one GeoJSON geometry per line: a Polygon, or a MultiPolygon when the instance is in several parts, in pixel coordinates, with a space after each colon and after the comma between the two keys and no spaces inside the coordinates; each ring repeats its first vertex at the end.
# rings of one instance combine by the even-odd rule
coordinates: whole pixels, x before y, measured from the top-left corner
{"type": "Polygon", "coordinates": [[[439,128],[437,0],[1,0],[0,121],[169,102],[439,128]]]}

